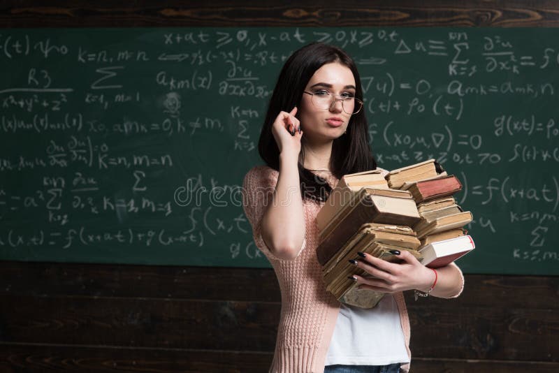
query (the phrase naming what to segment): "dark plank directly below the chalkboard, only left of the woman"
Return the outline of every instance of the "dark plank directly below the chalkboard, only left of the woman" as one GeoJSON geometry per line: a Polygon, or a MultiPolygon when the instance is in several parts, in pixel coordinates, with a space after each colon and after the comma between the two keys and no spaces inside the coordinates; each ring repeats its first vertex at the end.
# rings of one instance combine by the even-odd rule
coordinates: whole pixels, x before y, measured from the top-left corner
{"type": "Polygon", "coordinates": [[[279,302],[273,270],[0,261],[0,295],[96,295],[279,302]]]}

